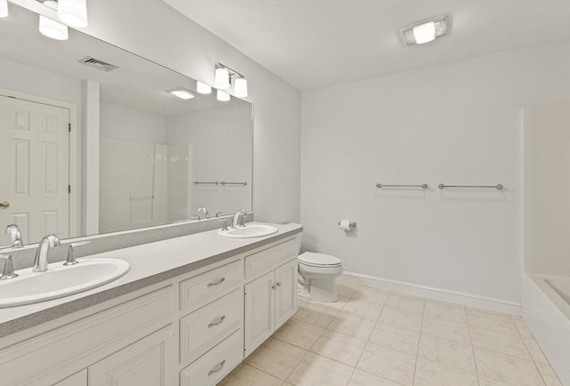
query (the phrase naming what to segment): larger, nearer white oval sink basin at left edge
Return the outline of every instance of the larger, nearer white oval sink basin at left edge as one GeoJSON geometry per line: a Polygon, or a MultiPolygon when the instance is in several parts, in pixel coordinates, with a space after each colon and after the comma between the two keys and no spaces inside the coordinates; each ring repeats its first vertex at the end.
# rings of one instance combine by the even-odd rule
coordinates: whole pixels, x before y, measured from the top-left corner
{"type": "Polygon", "coordinates": [[[0,308],[45,302],[77,294],[107,284],[128,272],[128,262],[118,259],[85,259],[71,266],[48,264],[45,272],[31,268],[17,271],[20,276],[0,280],[0,308]]]}

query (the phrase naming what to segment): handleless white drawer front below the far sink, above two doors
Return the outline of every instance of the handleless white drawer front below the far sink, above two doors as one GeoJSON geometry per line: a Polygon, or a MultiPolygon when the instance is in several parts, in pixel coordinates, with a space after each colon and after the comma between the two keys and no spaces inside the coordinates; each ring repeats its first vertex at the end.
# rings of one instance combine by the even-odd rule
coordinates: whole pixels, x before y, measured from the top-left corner
{"type": "Polygon", "coordinates": [[[250,254],[245,259],[246,278],[259,276],[291,259],[297,259],[297,253],[298,244],[293,239],[250,254]]]}

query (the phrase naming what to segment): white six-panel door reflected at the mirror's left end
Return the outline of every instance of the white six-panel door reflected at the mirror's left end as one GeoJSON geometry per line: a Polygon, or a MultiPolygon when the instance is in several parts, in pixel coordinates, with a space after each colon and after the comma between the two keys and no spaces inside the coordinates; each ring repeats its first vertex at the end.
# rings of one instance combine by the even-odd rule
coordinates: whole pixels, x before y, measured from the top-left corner
{"type": "Polygon", "coordinates": [[[0,95],[0,245],[69,236],[69,109],[0,95]]]}

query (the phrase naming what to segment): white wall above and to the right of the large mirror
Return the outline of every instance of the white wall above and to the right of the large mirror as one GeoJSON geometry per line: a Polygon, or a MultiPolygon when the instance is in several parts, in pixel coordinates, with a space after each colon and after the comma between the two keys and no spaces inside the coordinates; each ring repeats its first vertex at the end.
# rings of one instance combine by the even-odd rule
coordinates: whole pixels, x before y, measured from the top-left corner
{"type": "Polygon", "coordinates": [[[218,61],[247,76],[256,220],[299,221],[300,92],[160,0],[91,0],[88,12],[86,33],[187,76],[213,84],[218,61]]]}

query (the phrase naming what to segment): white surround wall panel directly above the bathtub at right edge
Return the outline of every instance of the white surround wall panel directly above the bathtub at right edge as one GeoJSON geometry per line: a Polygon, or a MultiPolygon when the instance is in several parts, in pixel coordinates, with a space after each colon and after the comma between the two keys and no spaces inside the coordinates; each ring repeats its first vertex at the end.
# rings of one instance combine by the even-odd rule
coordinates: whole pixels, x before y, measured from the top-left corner
{"type": "Polygon", "coordinates": [[[570,104],[525,109],[525,271],[570,277],[570,104]]]}

